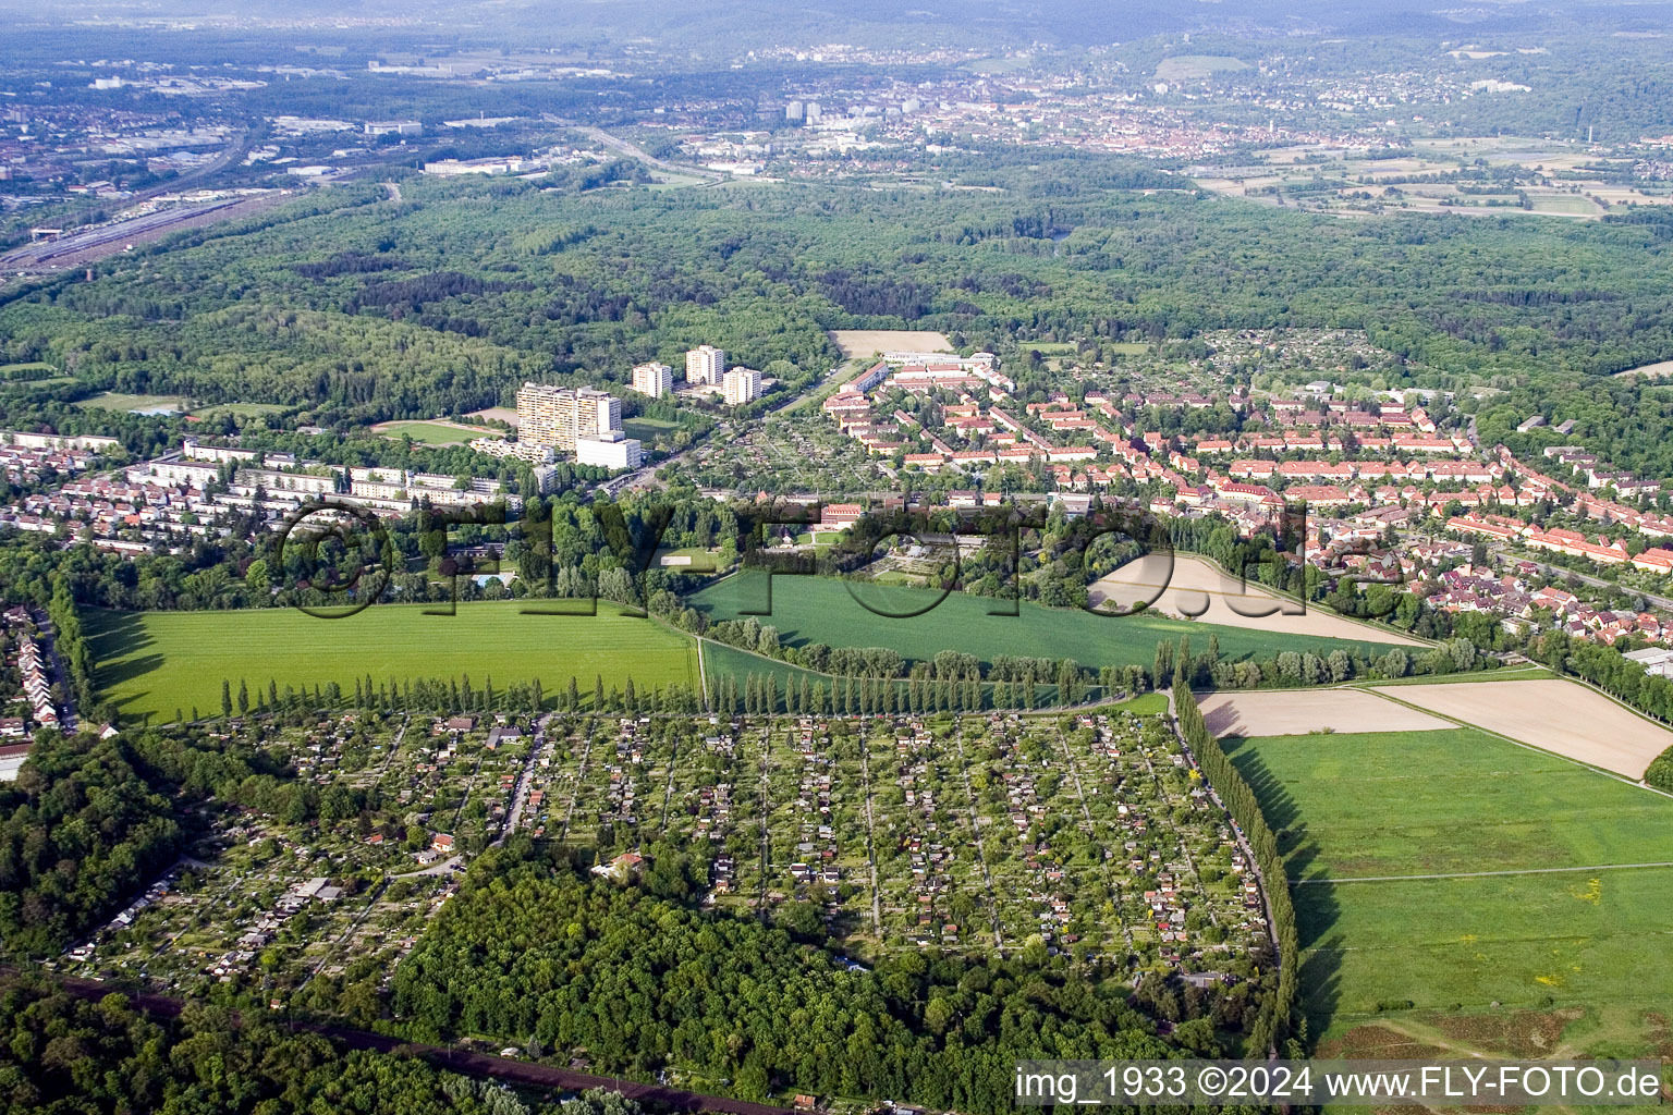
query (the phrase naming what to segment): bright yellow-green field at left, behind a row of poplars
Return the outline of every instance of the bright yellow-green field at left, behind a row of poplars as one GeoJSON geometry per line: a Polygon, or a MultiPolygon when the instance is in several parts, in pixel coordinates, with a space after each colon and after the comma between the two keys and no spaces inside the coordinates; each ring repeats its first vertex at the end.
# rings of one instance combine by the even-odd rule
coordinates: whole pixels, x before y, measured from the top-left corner
{"type": "Polygon", "coordinates": [[[457,615],[425,615],[425,605],[378,605],[343,620],[288,608],[246,612],[84,614],[97,685],[127,717],[172,720],[174,710],[221,710],[221,680],[273,679],[315,685],[355,679],[463,677],[480,687],[540,679],[547,694],[574,675],[582,690],[604,675],[606,689],[632,677],[639,690],[696,685],[696,644],[652,620],[621,615],[599,600],[596,617],[520,615],[522,602],[460,603],[457,615]]]}

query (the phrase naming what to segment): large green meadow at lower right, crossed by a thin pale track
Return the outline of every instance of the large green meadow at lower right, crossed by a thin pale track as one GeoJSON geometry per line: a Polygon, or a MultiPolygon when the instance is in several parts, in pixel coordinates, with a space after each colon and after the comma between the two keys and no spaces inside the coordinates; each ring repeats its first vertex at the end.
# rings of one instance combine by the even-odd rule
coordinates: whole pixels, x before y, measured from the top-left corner
{"type": "Polygon", "coordinates": [[[1594,1030],[1613,1020],[1626,1046],[1611,1048],[1651,1048],[1646,1011],[1673,1003],[1658,960],[1673,868],[1584,868],[1673,861],[1673,801],[1471,729],[1226,749],[1305,881],[1293,896],[1315,1035],[1571,1010],[1594,1030]],[[1492,871],[1514,874],[1417,878],[1492,871]],[[1379,876],[1395,878],[1348,881],[1379,876]]]}

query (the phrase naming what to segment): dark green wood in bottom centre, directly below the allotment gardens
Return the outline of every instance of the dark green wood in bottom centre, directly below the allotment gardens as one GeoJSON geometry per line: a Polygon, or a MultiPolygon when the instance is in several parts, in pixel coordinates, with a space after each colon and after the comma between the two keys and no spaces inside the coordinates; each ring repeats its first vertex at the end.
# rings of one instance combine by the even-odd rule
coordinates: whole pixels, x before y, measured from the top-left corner
{"type": "Polygon", "coordinates": [[[1039,943],[848,971],[818,936],[693,909],[706,864],[678,859],[621,886],[525,841],[483,856],[397,970],[397,1015],[417,1038],[532,1036],[586,1048],[594,1070],[676,1067],[750,1100],[795,1088],[1000,1112],[1017,1058],[1213,1055],[1271,991],[1253,970],[1220,993],[1154,976],[1134,991],[1124,958],[1077,966],[1039,943]],[[1166,1040],[1158,1018],[1176,1023],[1166,1040]]]}

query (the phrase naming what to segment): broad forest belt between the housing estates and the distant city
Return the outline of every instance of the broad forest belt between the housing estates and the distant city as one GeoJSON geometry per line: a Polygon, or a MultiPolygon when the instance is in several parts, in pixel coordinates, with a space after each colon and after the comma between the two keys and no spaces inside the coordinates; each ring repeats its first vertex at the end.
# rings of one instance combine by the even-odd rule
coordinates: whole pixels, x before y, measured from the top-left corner
{"type": "MultiPolygon", "coordinates": [[[[621,383],[703,341],[800,386],[835,363],[833,326],[1000,351],[1362,328],[1459,384],[1573,388],[1673,358],[1665,219],[1340,221],[1106,189],[1108,165],[999,167],[995,192],[333,189],[0,308],[0,356],[117,391],[318,403],[326,420],[472,410],[525,378],[621,383]]],[[[75,425],[77,389],[7,396],[3,418],[75,425]]],[[[1643,443],[1673,453],[1655,430],[1643,443]]]]}

